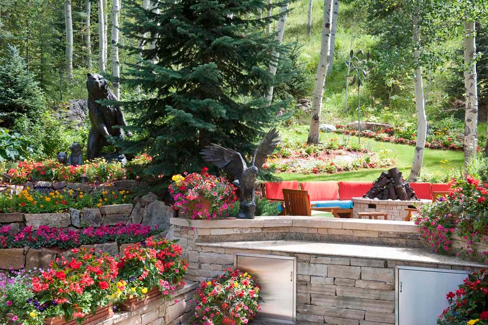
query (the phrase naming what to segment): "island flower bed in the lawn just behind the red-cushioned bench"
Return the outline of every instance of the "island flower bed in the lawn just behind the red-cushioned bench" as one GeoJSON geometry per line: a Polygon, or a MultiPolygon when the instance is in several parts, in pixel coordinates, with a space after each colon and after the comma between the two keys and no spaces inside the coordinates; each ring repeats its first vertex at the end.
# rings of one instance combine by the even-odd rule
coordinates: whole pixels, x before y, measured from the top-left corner
{"type": "Polygon", "coordinates": [[[348,147],[337,138],[331,138],[315,146],[279,146],[263,164],[263,168],[278,173],[335,174],[358,169],[386,168],[394,164],[391,158],[381,158],[367,149],[348,147]]]}

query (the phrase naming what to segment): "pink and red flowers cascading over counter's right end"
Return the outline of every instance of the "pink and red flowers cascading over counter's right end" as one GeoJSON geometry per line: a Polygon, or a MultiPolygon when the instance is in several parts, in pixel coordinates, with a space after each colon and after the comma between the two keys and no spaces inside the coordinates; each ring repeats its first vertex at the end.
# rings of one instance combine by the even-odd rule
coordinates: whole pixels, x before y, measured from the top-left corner
{"type": "Polygon", "coordinates": [[[467,175],[452,181],[452,192],[422,205],[416,224],[436,253],[474,256],[488,263],[488,186],[467,175]]]}

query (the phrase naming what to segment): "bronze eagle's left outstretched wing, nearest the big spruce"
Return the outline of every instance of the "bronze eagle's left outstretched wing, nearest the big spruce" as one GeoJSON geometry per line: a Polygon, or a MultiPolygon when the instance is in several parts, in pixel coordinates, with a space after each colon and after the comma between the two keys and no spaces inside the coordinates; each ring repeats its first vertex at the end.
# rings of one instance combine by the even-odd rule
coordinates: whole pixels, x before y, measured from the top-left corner
{"type": "Polygon", "coordinates": [[[200,155],[205,161],[213,163],[217,168],[224,168],[234,179],[240,180],[244,169],[247,167],[240,153],[215,143],[205,146],[200,155]]]}

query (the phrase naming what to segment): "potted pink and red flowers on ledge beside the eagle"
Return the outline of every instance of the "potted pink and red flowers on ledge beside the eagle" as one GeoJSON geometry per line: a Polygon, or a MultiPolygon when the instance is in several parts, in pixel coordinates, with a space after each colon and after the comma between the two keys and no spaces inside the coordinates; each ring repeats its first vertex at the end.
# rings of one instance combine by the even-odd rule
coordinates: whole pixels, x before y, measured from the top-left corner
{"type": "Polygon", "coordinates": [[[174,175],[169,186],[173,208],[188,219],[217,219],[229,216],[234,206],[234,185],[225,177],[216,177],[203,168],[200,173],[174,175]]]}

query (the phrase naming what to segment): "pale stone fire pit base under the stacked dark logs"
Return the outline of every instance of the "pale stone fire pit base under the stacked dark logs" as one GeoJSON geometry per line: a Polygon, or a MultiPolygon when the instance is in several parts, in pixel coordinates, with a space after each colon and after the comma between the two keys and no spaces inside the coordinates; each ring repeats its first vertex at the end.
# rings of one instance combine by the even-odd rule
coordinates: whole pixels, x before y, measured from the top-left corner
{"type": "Polygon", "coordinates": [[[358,212],[385,212],[388,220],[405,221],[408,212],[406,208],[417,208],[422,204],[430,204],[431,200],[402,201],[402,200],[378,200],[371,198],[352,198],[352,218],[357,219],[358,212]]]}

